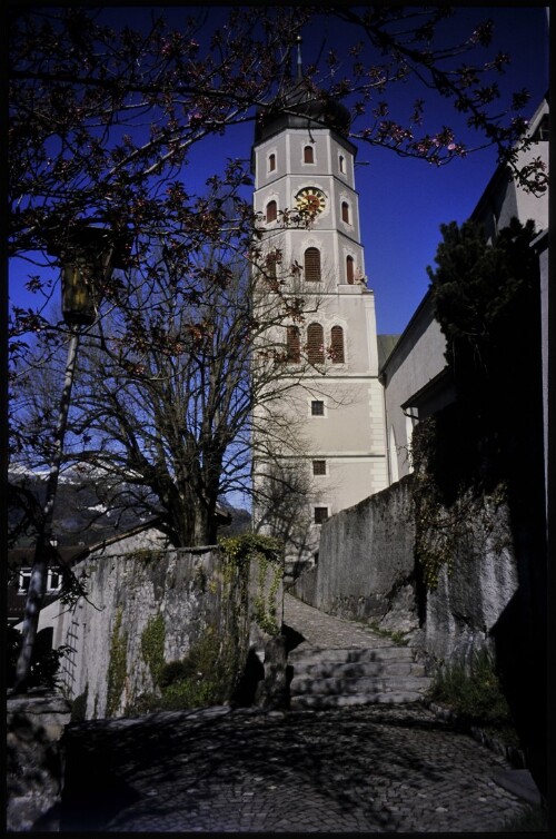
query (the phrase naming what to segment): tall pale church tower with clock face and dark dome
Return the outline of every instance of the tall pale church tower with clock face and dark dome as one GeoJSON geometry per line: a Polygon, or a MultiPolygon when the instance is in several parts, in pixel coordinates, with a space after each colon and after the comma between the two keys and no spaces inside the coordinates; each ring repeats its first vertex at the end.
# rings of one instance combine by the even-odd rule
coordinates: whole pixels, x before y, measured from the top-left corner
{"type": "MultiPolygon", "coordinates": [[[[258,119],[252,149],[254,207],[261,247],[296,266],[302,322],[284,327],[286,357],[298,384],[282,409],[304,451],[290,453],[310,484],[307,536],[287,545],[291,563],[318,556],[326,519],[387,486],[385,421],[375,297],[367,288],[355,182],[357,149],[347,139],[349,113],[300,78],[282,106],[258,119]],[[284,224],[300,210],[308,225],[284,224]]],[[[255,481],[264,468],[257,458],[255,481]]],[[[257,526],[264,511],[255,511],[257,526]]],[[[262,527],[265,531],[265,527],[262,527]]],[[[267,529],[267,532],[271,529],[267,529]]],[[[298,565],[299,567],[299,565],[298,565]]]]}

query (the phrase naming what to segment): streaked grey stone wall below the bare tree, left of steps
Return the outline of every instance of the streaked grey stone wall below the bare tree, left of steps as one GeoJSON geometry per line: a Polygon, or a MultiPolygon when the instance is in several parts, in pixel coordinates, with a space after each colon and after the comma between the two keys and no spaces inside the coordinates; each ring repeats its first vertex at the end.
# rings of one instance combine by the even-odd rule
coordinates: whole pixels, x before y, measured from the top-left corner
{"type": "MultiPolygon", "coordinates": [[[[251,567],[244,591],[238,570],[225,570],[217,547],[97,555],[73,570],[86,575],[87,598],[71,610],[60,601],[43,609],[39,630],[53,626],[53,645],[71,648],[60,678],[83,719],[121,715],[153,691],[148,641],[155,630],[163,635],[165,662],[183,659],[206,633],[222,643],[235,639],[244,663],[249,648],[265,658],[268,636],[251,625],[252,604],[261,585],[268,595],[271,570],[261,581],[251,567]]],[[[275,599],[279,625],[281,586],[275,599]]]]}

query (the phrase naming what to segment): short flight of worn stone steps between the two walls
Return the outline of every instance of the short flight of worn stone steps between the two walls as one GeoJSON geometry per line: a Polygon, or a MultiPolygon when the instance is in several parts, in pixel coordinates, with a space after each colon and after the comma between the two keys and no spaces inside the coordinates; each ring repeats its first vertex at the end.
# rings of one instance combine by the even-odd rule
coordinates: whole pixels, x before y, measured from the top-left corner
{"type": "Polygon", "coordinates": [[[291,650],[291,709],[421,702],[430,685],[410,646],[291,650]]]}

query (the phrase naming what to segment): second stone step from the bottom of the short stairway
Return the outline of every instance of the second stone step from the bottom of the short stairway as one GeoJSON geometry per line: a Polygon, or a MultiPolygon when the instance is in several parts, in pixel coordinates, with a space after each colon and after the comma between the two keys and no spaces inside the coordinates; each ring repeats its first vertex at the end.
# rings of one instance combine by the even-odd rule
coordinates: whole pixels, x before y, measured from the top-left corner
{"type": "Polygon", "coordinates": [[[355,679],[344,677],[330,677],[327,679],[315,679],[311,677],[294,675],[289,685],[290,695],[299,694],[371,694],[384,693],[386,691],[425,692],[430,685],[430,679],[423,675],[364,675],[355,679]]]}

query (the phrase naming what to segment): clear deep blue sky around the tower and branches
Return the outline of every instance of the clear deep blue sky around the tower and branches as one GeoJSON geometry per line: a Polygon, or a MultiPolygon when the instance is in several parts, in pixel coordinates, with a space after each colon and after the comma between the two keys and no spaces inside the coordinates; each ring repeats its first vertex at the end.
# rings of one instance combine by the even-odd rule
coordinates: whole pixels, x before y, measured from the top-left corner
{"type": "MultiPolygon", "coordinates": [[[[111,9],[121,11],[131,26],[150,7],[111,9]]],[[[176,7],[172,13],[176,14],[176,7]]],[[[218,13],[218,10],[217,10],[218,13]]],[[[527,88],[532,100],[526,116],[533,116],[548,88],[548,33],[545,7],[459,7],[456,19],[447,24],[451,32],[473,29],[480,19],[495,20],[495,46],[512,56],[512,66],[500,79],[503,91],[527,88]]],[[[315,60],[307,45],[331,46],[337,32],[326,26],[304,37],[304,62],[315,60]],[[314,36],[318,37],[315,38],[314,36]]],[[[315,47],[316,49],[316,47],[315,47]]],[[[404,93],[405,96],[406,93],[404,93]]],[[[407,107],[414,93],[407,91],[407,107]]],[[[455,116],[446,100],[436,99],[431,117],[441,125],[454,125],[455,116]]],[[[198,184],[214,174],[227,157],[249,158],[252,124],[239,126],[224,138],[210,138],[195,149],[183,179],[198,184]]],[[[391,151],[361,147],[357,157],[356,187],[359,193],[361,240],[366,273],[375,292],[379,333],[400,333],[428,287],[427,265],[434,265],[443,223],[464,221],[473,211],[496,168],[493,149],[468,155],[437,168],[421,160],[400,158],[391,151]]],[[[37,305],[21,292],[19,267],[11,274],[12,298],[20,305],[37,305]]]]}

